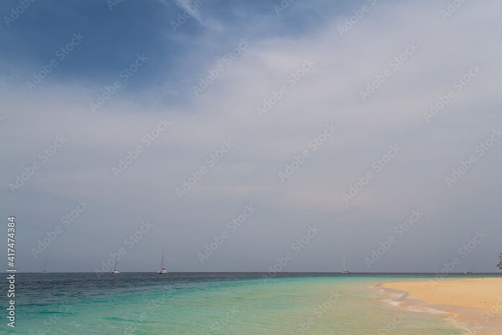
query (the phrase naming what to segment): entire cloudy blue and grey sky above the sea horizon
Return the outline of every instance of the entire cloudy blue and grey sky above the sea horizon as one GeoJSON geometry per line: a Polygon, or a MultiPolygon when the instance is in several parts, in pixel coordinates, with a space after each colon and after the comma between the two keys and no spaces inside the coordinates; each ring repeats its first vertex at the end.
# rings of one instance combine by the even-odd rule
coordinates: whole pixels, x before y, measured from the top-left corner
{"type": "Polygon", "coordinates": [[[0,14],[18,271],[498,271],[499,1],[0,14]]]}

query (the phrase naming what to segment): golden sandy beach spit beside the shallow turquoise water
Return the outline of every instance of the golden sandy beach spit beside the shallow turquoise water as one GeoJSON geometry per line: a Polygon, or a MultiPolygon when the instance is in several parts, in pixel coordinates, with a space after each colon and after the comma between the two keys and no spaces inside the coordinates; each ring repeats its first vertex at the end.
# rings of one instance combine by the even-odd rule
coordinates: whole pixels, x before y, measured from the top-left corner
{"type": "Polygon", "coordinates": [[[375,284],[384,302],[410,311],[451,317],[472,333],[502,329],[502,278],[423,280],[375,284]]]}

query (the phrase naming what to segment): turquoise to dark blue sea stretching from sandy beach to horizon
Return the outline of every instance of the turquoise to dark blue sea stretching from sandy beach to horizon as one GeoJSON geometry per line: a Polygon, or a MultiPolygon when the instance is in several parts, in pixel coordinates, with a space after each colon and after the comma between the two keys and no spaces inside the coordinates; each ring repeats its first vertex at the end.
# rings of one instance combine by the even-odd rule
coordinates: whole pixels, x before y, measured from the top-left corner
{"type": "MultiPolygon", "coordinates": [[[[7,326],[4,309],[0,333],[470,333],[444,315],[414,312],[393,305],[384,292],[370,288],[383,282],[432,277],[431,274],[367,273],[278,273],[273,276],[266,273],[120,273],[99,277],[94,273],[16,274],[16,328],[7,326]]],[[[477,275],[448,276],[457,277],[477,275]]],[[[4,297],[7,296],[6,283],[4,278],[4,297]]]]}

